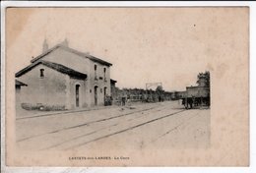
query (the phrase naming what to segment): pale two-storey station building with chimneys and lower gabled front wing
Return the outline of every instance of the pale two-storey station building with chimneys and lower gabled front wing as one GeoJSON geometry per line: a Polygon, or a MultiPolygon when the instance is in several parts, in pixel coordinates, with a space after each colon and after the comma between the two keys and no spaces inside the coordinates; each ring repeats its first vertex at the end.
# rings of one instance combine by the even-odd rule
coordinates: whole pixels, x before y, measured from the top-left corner
{"type": "Polygon", "coordinates": [[[67,40],[50,49],[44,40],[42,53],[31,63],[16,73],[28,85],[20,94],[23,103],[74,109],[104,105],[111,95],[112,64],[68,47],[67,40]]]}

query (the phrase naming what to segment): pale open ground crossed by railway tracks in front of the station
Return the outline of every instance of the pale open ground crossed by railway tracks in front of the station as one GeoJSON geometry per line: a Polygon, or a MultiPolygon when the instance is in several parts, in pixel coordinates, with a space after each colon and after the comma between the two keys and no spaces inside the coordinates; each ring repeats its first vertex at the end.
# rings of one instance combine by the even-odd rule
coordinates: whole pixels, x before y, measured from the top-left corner
{"type": "Polygon", "coordinates": [[[202,147],[210,144],[210,109],[166,101],[17,119],[16,128],[18,147],[30,150],[202,147]]]}

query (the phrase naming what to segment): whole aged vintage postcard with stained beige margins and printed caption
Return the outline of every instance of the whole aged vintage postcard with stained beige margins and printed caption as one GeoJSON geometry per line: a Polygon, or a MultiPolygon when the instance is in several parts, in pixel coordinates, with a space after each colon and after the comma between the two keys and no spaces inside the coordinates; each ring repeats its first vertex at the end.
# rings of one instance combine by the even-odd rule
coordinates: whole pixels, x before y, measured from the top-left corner
{"type": "Polygon", "coordinates": [[[248,7],[5,9],[8,166],[248,166],[248,7]]]}

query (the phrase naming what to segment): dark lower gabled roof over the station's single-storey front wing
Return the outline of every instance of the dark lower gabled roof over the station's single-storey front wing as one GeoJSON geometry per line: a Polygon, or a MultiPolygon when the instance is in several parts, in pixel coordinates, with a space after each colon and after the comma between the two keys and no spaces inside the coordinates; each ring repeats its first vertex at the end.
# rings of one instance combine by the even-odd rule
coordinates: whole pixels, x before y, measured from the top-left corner
{"type": "Polygon", "coordinates": [[[22,75],[26,74],[27,72],[31,71],[32,68],[34,68],[35,66],[42,64],[48,68],[51,68],[53,70],[56,70],[62,74],[66,74],[69,75],[70,77],[77,77],[77,78],[82,78],[82,79],[86,79],[87,75],[77,72],[73,69],[70,69],[66,66],[63,66],[61,64],[57,64],[57,63],[53,63],[53,62],[49,62],[49,61],[36,61],[34,63],[32,63],[30,66],[27,66],[26,68],[22,69],[21,71],[19,71],[18,73],[15,74],[15,77],[21,77],[22,75]]]}

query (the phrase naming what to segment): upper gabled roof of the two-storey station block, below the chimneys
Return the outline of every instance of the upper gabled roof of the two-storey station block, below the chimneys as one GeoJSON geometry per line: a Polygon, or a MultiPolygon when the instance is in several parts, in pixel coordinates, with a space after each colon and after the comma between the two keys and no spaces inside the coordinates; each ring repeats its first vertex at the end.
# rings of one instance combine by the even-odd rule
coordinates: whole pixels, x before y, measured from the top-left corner
{"type": "Polygon", "coordinates": [[[41,59],[42,57],[44,57],[45,55],[49,54],[50,52],[52,52],[53,50],[55,50],[55,49],[57,49],[57,48],[62,48],[62,49],[64,49],[64,50],[66,50],[66,51],[69,51],[69,52],[71,52],[71,53],[75,53],[75,54],[77,54],[77,55],[79,55],[79,56],[81,56],[81,57],[89,58],[89,59],[91,59],[92,61],[98,62],[98,63],[103,64],[103,65],[106,65],[106,66],[112,66],[111,63],[108,63],[108,62],[106,62],[106,61],[104,61],[104,60],[101,60],[101,59],[99,59],[99,58],[96,58],[95,56],[90,55],[89,53],[80,52],[80,51],[75,50],[75,49],[73,49],[73,48],[66,47],[66,46],[64,46],[64,45],[62,45],[62,44],[57,44],[57,45],[55,45],[54,47],[50,48],[50,49],[47,50],[46,52],[44,52],[44,53],[38,55],[37,57],[33,58],[31,62],[33,63],[33,62],[35,62],[35,61],[41,59]]]}

